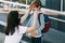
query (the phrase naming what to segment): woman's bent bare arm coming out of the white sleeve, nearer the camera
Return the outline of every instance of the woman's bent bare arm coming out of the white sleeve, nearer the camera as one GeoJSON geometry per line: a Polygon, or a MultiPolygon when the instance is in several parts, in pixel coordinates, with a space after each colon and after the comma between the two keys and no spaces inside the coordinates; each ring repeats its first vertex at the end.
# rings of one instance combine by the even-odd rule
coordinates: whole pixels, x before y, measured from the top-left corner
{"type": "Polygon", "coordinates": [[[32,31],[36,30],[36,27],[37,27],[37,18],[38,18],[38,13],[37,13],[37,11],[35,11],[32,26],[31,27],[28,27],[27,30],[26,30],[26,32],[29,32],[30,33],[30,32],[32,32],[32,31]]]}

